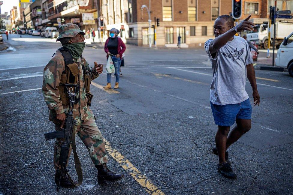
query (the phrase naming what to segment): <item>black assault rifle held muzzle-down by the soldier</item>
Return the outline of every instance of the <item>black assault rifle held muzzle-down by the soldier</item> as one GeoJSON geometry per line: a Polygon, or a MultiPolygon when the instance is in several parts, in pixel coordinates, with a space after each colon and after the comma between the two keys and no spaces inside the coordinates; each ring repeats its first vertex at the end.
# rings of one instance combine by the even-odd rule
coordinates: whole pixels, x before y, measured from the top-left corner
{"type": "MultiPolygon", "coordinates": [[[[66,92],[68,93],[68,97],[69,97],[69,107],[68,107],[68,114],[66,116],[66,120],[60,126],[60,131],[53,131],[53,132],[49,132],[49,133],[44,134],[46,141],[51,140],[51,139],[56,139],[56,138],[64,138],[65,139],[61,143],[61,152],[60,152],[59,166],[58,166],[61,168],[58,170],[60,173],[60,178],[59,178],[59,184],[57,187],[57,192],[60,189],[61,176],[62,176],[64,170],[66,169],[66,163],[67,163],[68,156],[69,156],[69,149],[70,149],[70,145],[73,141],[72,136],[74,136],[73,139],[75,140],[75,135],[72,135],[72,134],[74,132],[74,125],[76,123],[76,120],[74,120],[74,118],[73,118],[73,107],[74,107],[74,102],[75,102],[75,98],[76,98],[76,94],[75,94],[76,88],[77,88],[77,85],[65,84],[65,89],[66,89],[66,92]],[[73,88],[74,88],[74,91],[73,91],[73,88]],[[65,128],[63,128],[64,125],[65,125],[65,128]]],[[[74,147],[74,150],[75,150],[75,147],[74,147]]],[[[81,177],[81,182],[82,182],[82,177],[81,177]]]]}

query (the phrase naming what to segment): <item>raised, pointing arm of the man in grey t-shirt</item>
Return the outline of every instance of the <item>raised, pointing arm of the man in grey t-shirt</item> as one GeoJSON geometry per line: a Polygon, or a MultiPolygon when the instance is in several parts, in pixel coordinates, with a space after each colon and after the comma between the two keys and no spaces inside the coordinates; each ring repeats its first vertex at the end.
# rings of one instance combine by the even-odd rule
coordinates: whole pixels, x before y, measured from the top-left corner
{"type": "MultiPolygon", "coordinates": [[[[248,22],[249,18],[251,15],[249,15],[245,20],[243,20],[242,22],[240,22],[237,26],[237,32],[242,32],[243,30],[253,30],[253,28],[250,26],[255,26],[254,23],[252,22],[248,22]]],[[[209,46],[209,50],[210,53],[216,53],[219,49],[221,49],[222,46],[224,46],[234,35],[236,34],[235,28],[232,28],[230,30],[228,30],[227,32],[225,32],[222,35],[219,35],[218,37],[216,37],[209,46]]]]}

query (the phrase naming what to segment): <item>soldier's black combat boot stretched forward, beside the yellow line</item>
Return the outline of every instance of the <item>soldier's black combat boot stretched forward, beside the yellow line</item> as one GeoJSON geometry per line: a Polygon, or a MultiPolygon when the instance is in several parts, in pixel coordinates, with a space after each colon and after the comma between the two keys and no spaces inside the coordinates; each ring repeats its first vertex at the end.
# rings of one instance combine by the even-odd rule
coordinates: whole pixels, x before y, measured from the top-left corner
{"type": "Polygon", "coordinates": [[[106,164],[96,165],[98,170],[98,183],[104,184],[106,182],[116,182],[124,177],[121,173],[111,172],[106,164]]]}

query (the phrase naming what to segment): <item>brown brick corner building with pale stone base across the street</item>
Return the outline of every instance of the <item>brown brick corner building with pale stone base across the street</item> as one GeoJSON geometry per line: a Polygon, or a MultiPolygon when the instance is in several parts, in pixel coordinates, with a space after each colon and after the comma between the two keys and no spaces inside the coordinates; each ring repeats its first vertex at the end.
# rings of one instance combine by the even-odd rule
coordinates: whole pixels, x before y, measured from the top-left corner
{"type": "MultiPolygon", "coordinates": [[[[214,20],[231,13],[231,0],[150,0],[152,25],[154,17],[160,19],[157,28],[157,45],[174,47],[177,37],[181,46],[198,46],[213,38],[214,20]]],[[[244,0],[241,19],[249,14],[253,18],[268,18],[272,0],[244,0]]],[[[106,29],[122,30],[121,36],[128,44],[148,45],[149,36],[154,41],[154,29],[148,35],[148,13],[141,6],[149,7],[149,0],[99,0],[106,29]]],[[[293,9],[293,0],[278,0],[279,10],[293,9]]],[[[293,11],[293,10],[292,10],[293,11]]]]}

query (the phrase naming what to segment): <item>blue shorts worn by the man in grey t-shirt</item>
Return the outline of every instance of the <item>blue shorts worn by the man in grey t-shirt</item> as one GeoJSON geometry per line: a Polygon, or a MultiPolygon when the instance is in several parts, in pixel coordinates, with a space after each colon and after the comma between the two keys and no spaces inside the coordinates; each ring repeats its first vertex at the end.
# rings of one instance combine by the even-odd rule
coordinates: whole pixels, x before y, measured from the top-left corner
{"type": "Polygon", "coordinates": [[[252,107],[249,98],[239,104],[210,104],[216,125],[228,127],[232,126],[236,119],[251,119],[252,107]]]}

